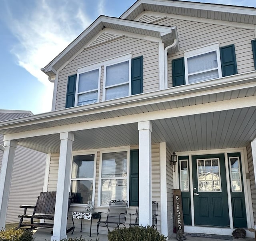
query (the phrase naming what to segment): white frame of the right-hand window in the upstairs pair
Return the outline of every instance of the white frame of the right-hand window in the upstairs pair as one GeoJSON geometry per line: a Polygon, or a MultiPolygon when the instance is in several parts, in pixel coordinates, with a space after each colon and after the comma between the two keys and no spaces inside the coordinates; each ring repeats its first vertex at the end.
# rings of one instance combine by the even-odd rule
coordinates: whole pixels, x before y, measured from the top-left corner
{"type": "MultiPolygon", "coordinates": [[[[116,58],[108,63],[106,63],[104,65],[104,78],[103,78],[103,93],[102,93],[102,101],[106,101],[106,90],[108,88],[111,88],[111,87],[116,87],[116,86],[122,86],[124,84],[128,84],[128,96],[131,95],[131,70],[132,70],[132,57],[129,55],[129,56],[122,56],[120,58],[116,58]],[[127,82],[123,82],[121,84],[115,84],[115,85],[111,85],[111,86],[106,86],[106,70],[107,70],[107,67],[108,66],[112,66],[114,64],[120,64],[122,62],[126,62],[128,61],[129,62],[129,79],[127,82]]],[[[121,97],[123,98],[123,97],[121,97]]],[[[119,99],[119,98],[116,98],[116,99],[119,99]]],[[[115,100],[115,99],[112,99],[112,100],[115,100]]]]}

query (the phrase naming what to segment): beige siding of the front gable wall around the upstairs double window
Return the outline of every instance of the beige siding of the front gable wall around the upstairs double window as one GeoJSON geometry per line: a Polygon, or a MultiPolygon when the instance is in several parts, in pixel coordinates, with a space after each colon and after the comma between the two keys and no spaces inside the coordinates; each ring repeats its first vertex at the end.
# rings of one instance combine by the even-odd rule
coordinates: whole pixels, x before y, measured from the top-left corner
{"type": "MultiPolygon", "coordinates": [[[[143,56],[143,92],[159,90],[158,43],[123,36],[105,44],[91,46],[72,60],[58,76],[56,110],[65,108],[68,76],[76,74],[77,68],[89,66],[132,53],[132,58],[143,56]]],[[[103,67],[101,70],[100,101],[102,101],[103,67]]]]}

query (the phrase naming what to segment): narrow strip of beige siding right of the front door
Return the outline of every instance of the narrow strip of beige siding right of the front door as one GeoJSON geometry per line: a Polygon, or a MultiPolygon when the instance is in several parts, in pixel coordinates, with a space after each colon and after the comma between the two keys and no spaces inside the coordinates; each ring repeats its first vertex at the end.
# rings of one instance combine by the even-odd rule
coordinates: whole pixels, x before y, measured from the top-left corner
{"type": "Polygon", "coordinates": [[[249,168],[249,174],[250,174],[250,188],[252,193],[253,218],[254,218],[254,223],[256,223],[256,183],[255,183],[254,167],[253,167],[253,160],[252,160],[252,146],[250,142],[246,148],[247,148],[248,168],[249,168]]]}

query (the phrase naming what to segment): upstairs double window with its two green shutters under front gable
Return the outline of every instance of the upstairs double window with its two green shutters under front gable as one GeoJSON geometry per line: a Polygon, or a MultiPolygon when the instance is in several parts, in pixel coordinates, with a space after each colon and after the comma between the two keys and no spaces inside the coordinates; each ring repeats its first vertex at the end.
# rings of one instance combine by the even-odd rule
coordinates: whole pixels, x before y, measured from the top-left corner
{"type": "Polygon", "coordinates": [[[143,56],[126,54],[79,68],[68,76],[66,108],[143,92],[143,56]]]}

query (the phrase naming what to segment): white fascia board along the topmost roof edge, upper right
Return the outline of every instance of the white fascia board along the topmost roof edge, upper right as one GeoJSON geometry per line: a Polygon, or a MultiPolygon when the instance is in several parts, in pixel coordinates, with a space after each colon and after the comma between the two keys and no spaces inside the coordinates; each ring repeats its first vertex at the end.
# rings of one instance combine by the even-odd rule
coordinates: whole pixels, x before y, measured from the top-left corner
{"type": "Polygon", "coordinates": [[[245,14],[250,16],[256,15],[256,9],[253,7],[240,7],[232,5],[220,5],[220,4],[209,4],[209,3],[198,3],[198,2],[183,2],[183,1],[169,1],[169,0],[140,0],[136,2],[132,8],[129,8],[120,18],[126,18],[131,14],[140,4],[154,4],[160,6],[177,7],[177,8],[189,8],[194,10],[210,10],[216,12],[229,12],[234,14],[245,14]]]}

